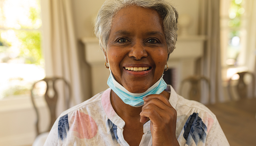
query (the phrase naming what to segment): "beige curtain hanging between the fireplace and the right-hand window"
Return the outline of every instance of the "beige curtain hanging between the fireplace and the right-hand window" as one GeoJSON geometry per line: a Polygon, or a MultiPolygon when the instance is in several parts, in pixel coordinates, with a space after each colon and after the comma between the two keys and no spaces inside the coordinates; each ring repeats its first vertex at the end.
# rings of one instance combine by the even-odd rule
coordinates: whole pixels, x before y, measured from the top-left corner
{"type": "MultiPolygon", "coordinates": [[[[210,80],[210,103],[222,102],[219,0],[200,0],[199,21],[199,34],[207,37],[201,59],[201,74],[210,80]]],[[[208,97],[207,84],[203,83],[201,87],[202,97],[208,97]]]]}

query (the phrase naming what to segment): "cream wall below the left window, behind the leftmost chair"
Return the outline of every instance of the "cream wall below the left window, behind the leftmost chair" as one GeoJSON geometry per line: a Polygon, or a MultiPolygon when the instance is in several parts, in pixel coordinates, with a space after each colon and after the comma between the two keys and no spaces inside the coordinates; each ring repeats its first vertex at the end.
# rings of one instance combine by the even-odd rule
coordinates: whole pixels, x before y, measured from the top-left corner
{"type": "MultiPolygon", "coordinates": [[[[43,98],[36,98],[39,107],[40,129],[49,126],[49,111],[43,98]]],[[[29,146],[35,137],[36,112],[29,97],[0,102],[0,146],[29,146]]]]}

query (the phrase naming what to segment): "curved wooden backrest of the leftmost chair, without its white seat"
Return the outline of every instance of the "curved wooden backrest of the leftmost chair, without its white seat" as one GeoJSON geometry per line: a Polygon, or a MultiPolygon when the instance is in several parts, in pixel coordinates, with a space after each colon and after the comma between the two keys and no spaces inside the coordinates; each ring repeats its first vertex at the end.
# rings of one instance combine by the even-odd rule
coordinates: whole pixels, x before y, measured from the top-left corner
{"type": "Polygon", "coordinates": [[[48,105],[48,108],[50,110],[50,125],[49,125],[49,128],[47,131],[50,131],[55,120],[57,119],[56,117],[56,106],[57,106],[57,100],[58,100],[58,92],[56,90],[56,87],[55,87],[55,83],[57,80],[62,80],[64,81],[64,84],[65,86],[68,88],[68,95],[65,97],[64,96],[64,100],[65,100],[65,108],[68,109],[68,104],[69,104],[69,101],[70,101],[70,98],[71,98],[71,88],[70,88],[70,85],[68,84],[68,82],[64,79],[64,78],[58,78],[58,77],[54,77],[54,78],[44,78],[40,81],[37,81],[33,84],[33,87],[31,89],[31,101],[32,101],[32,104],[34,106],[34,109],[36,111],[36,116],[37,116],[37,120],[36,120],[36,132],[37,132],[37,135],[39,135],[40,133],[43,133],[43,132],[46,132],[46,131],[43,131],[43,132],[40,132],[39,130],[39,122],[40,122],[40,116],[39,116],[39,111],[38,111],[38,107],[36,106],[35,104],[35,100],[34,100],[34,94],[33,94],[33,90],[35,88],[35,85],[38,83],[38,82],[41,82],[41,81],[45,81],[46,82],[46,85],[47,85],[47,88],[46,88],[46,92],[44,94],[44,97],[45,97],[45,101],[48,105]],[[50,83],[52,83],[51,85],[52,86],[49,86],[50,83]],[[50,97],[48,95],[48,91],[49,89],[52,88],[52,90],[54,91],[54,95],[53,97],[50,97]]]}

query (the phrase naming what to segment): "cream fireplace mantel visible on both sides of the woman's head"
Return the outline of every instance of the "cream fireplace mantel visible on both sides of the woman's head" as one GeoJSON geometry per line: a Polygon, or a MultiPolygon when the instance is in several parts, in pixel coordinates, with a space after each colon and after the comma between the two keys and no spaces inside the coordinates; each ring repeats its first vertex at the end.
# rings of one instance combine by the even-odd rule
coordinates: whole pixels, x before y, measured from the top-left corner
{"type": "MultiPolygon", "coordinates": [[[[108,88],[109,70],[104,66],[105,58],[99,40],[96,37],[83,37],[81,40],[85,46],[85,61],[91,67],[92,94],[95,95],[108,88]]],[[[167,62],[169,68],[176,69],[176,90],[184,78],[194,74],[195,61],[203,55],[205,40],[205,36],[178,37],[176,49],[167,62]]]]}

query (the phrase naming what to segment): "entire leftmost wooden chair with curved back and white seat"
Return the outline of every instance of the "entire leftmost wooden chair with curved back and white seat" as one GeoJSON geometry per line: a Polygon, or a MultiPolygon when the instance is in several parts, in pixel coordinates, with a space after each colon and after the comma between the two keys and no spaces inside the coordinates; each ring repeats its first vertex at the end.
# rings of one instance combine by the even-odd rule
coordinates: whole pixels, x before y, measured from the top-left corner
{"type": "Polygon", "coordinates": [[[33,87],[31,89],[31,101],[32,101],[32,104],[34,106],[34,109],[36,111],[36,116],[37,116],[37,120],[36,120],[36,134],[37,134],[37,137],[33,143],[33,146],[40,146],[40,145],[43,145],[55,120],[57,119],[57,116],[56,116],[56,107],[57,107],[57,100],[58,98],[58,92],[56,90],[56,81],[58,80],[62,80],[65,84],[65,86],[68,88],[68,95],[67,97],[65,98],[65,108],[68,109],[68,104],[69,104],[69,101],[70,101],[70,97],[71,97],[71,88],[70,88],[70,85],[68,84],[68,82],[64,79],[64,78],[45,78],[45,79],[42,79],[40,81],[37,81],[36,83],[33,84],[33,87]],[[33,94],[33,90],[35,89],[35,85],[38,83],[38,82],[41,82],[41,81],[45,81],[46,82],[46,92],[45,92],[45,95],[44,95],[44,98],[45,98],[45,101],[47,103],[47,106],[50,110],[50,124],[49,124],[49,128],[47,129],[47,131],[44,131],[44,132],[41,132],[40,129],[39,129],[39,122],[40,122],[40,114],[39,114],[39,109],[35,103],[35,95],[33,94]],[[51,83],[51,84],[50,84],[51,83]],[[54,91],[54,95],[51,97],[49,96],[49,90],[52,89],[54,91]]]}

